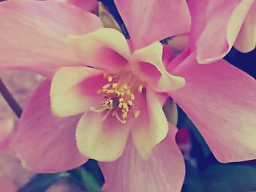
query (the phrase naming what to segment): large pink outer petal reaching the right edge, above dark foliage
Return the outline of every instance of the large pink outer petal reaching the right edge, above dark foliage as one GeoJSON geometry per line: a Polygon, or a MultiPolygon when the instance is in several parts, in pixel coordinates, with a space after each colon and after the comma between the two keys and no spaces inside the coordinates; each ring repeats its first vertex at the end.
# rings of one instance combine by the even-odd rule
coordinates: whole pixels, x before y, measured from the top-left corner
{"type": "Polygon", "coordinates": [[[195,54],[173,73],[187,83],[170,96],[195,123],[217,159],[255,159],[255,79],[225,60],[199,65],[195,54]]]}

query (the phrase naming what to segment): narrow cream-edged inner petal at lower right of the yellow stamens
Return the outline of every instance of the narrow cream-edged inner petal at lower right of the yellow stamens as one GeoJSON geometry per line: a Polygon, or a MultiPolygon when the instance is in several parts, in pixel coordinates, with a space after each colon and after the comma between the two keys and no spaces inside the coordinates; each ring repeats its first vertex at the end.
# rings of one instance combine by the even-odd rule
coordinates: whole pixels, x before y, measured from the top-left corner
{"type": "Polygon", "coordinates": [[[146,159],[154,146],[165,139],[168,123],[162,104],[154,92],[147,90],[146,96],[135,98],[135,107],[138,105],[140,115],[132,126],[132,139],[138,153],[146,159]]]}

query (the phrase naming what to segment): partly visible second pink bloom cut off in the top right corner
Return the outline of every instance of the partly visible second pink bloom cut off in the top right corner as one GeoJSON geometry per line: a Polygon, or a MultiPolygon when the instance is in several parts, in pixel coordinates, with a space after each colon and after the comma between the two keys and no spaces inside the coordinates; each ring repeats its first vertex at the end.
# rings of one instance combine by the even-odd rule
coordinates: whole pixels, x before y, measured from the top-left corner
{"type": "Polygon", "coordinates": [[[189,41],[200,64],[223,58],[232,46],[244,53],[255,49],[255,0],[189,0],[188,4],[192,15],[189,41]]]}

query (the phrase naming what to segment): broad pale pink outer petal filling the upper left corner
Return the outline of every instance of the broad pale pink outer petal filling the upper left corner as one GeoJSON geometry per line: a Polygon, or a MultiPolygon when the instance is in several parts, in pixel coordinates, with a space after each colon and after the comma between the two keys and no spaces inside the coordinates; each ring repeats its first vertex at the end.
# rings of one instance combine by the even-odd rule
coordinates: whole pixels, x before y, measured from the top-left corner
{"type": "Polygon", "coordinates": [[[80,61],[67,36],[102,26],[99,18],[68,4],[4,1],[0,4],[0,69],[25,69],[51,77],[60,66],[80,61]]]}

